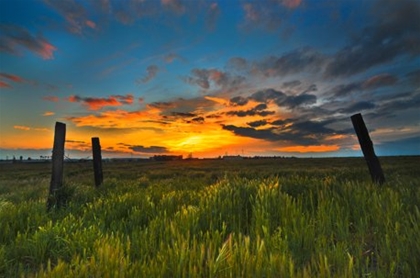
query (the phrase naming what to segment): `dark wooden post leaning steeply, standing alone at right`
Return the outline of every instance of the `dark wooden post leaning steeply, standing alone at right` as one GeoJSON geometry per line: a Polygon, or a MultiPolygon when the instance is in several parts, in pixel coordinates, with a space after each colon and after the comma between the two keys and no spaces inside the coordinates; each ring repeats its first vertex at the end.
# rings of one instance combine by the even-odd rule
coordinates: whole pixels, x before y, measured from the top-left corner
{"type": "Polygon", "coordinates": [[[369,168],[372,181],[382,185],[385,182],[384,173],[378,157],[375,155],[372,140],[370,140],[369,132],[366,128],[360,113],[351,116],[354,130],[356,131],[357,138],[359,139],[360,147],[362,148],[363,155],[369,168]]]}

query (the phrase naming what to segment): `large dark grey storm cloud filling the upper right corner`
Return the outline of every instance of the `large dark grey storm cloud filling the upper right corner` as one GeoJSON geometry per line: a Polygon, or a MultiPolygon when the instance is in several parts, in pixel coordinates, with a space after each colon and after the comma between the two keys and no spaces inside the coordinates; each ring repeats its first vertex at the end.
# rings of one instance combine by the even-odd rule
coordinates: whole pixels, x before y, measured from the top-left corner
{"type": "Polygon", "coordinates": [[[419,1],[378,1],[373,15],[374,23],[332,57],[326,77],[349,76],[399,56],[420,54],[419,1]]]}

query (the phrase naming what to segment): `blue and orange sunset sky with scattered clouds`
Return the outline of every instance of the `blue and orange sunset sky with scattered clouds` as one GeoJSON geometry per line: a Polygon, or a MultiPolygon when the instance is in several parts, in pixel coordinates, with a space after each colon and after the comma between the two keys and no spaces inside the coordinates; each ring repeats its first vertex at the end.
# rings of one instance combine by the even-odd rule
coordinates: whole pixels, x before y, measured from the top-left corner
{"type": "Polygon", "coordinates": [[[420,154],[418,0],[0,0],[0,159],[420,154]]]}

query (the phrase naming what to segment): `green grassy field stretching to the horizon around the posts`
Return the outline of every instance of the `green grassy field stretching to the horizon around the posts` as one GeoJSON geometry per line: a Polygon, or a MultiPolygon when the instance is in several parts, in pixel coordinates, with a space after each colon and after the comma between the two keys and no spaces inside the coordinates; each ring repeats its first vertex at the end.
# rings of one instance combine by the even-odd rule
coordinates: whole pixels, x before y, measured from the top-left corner
{"type": "Polygon", "coordinates": [[[0,277],[419,277],[420,157],[0,164],[0,277]]]}

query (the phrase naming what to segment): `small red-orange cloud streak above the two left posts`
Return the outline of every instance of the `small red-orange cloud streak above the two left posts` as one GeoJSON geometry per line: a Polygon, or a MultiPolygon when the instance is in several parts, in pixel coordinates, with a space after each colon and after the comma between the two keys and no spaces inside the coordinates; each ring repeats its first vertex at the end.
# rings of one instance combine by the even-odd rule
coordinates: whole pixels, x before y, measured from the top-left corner
{"type": "Polygon", "coordinates": [[[94,98],[94,97],[80,97],[78,95],[72,95],[67,98],[69,102],[81,102],[83,105],[87,106],[89,110],[99,110],[105,106],[121,106],[121,105],[130,105],[134,102],[134,96],[127,94],[122,95],[112,95],[108,98],[94,98]]]}

